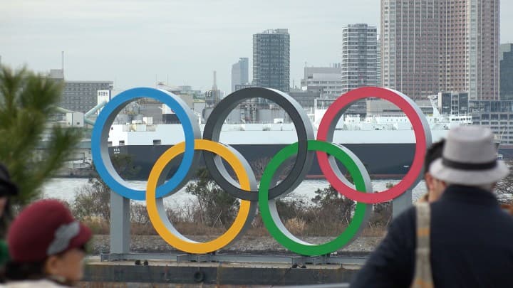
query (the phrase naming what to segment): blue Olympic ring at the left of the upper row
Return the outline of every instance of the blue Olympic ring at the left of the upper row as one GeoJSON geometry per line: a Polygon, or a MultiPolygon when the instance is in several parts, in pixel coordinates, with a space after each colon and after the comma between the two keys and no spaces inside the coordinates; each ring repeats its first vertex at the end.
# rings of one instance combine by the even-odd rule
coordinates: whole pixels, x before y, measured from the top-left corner
{"type": "Polygon", "coordinates": [[[96,119],[91,135],[91,154],[93,156],[93,163],[96,171],[103,179],[103,181],[115,192],[121,196],[133,200],[145,200],[145,190],[136,190],[125,186],[123,178],[121,178],[113,169],[110,157],[108,156],[108,132],[110,125],[120,110],[125,107],[129,102],[137,100],[138,98],[148,97],[155,99],[169,106],[177,115],[182,123],[185,134],[185,152],[182,161],[176,173],[170,178],[169,181],[157,187],[156,196],[162,198],[167,194],[175,192],[174,189],[188,178],[193,161],[195,161],[195,139],[200,138],[199,125],[195,122],[192,125],[194,115],[190,112],[187,104],[170,92],[165,90],[157,90],[148,87],[138,87],[130,90],[125,90],[119,95],[110,100],[105,107],[101,110],[96,119]],[[105,125],[108,127],[105,128],[105,125]]]}

